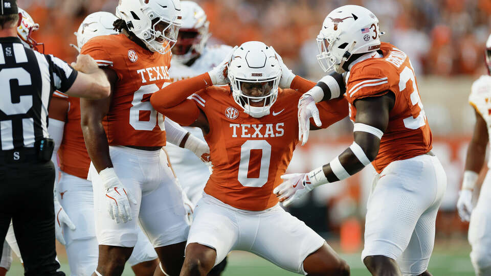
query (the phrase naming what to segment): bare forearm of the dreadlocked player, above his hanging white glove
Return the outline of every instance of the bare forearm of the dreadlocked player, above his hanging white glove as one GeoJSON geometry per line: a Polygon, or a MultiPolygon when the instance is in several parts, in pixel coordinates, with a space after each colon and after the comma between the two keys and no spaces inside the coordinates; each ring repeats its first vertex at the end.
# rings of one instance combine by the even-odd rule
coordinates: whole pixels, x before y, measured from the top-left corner
{"type": "Polygon", "coordinates": [[[100,122],[82,122],[82,132],[88,156],[91,157],[97,172],[105,168],[113,168],[113,162],[111,162],[109,155],[109,144],[102,124],[100,122]]]}

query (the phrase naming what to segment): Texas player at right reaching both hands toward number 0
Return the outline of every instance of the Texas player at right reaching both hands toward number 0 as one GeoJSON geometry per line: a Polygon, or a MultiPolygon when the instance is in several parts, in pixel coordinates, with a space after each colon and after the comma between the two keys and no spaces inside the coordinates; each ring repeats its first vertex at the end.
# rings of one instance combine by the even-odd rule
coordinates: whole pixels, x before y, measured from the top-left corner
{"type": "Polygon", "coordinates": [[[345,74],[354,142],[329,164],[287,174],[275,189],[288,205],[315,187],[349,177],[372,163],[378,175],[367,203],[362,260],[372,275],[431,275],[435,220],[447,177],[431,152],[432,134],[408,56],[380,42],[378,19],[360,6],[333,10],[317,37],[318,60],[336,73],[302,96],[299,127],[306,142],[316,102],[338,96],[345,74]],[[333,93],[334,92],[334,93],[333,93]]]}

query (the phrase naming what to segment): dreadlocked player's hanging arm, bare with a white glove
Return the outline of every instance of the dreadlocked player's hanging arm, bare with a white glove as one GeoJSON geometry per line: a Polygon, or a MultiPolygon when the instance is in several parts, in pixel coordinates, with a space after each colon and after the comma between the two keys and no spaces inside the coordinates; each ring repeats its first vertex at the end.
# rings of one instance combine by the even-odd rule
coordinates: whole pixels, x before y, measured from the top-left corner
{"type": "MultiPolygon", "coordinates": [[[[111,83],[112,96],[113,87],[118,77],[110,69],[104,69],[104,73],[111,83]]],[[[119,180],[109,155],[109,144],[102,126],[102,118],[109,111],[111,96],[102,100],[80,99],[81,127],[88,155],[91,157],[106,190],[105,199],[109,216],[116,220],[116,223],[120,221],[124,223],[132,219],[130,202],[136,205],[137,201],[119,180]]]]}

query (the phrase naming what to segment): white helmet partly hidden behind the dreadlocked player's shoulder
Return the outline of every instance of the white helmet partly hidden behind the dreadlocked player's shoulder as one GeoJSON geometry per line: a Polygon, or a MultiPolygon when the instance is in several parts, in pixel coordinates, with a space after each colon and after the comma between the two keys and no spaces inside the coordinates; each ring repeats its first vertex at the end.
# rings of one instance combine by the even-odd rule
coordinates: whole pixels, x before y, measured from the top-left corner
{"type": "Polygon", "coordinates": [[[118,32],[113,27],[117,19],[118,17],[110,12],[95,12],[87,15],[78,31],[74,33],[77,36],[78,48],[81,49],[83,44],[93,37],[117,34],[118,32]]]}

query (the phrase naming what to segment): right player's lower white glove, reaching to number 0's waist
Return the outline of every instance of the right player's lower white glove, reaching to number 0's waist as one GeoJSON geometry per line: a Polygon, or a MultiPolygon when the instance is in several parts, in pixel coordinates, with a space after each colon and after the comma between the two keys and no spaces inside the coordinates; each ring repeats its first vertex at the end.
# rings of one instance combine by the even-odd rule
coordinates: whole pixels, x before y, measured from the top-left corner
{"type": "Polygon", "coordinates": [[[285,207],[315,188],[306,173],[284,174],[281,179],[285,181],[276,187],[273,193],[285,207]]]}

